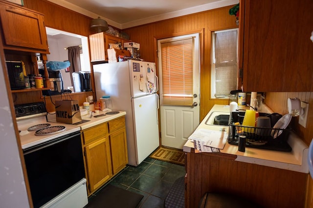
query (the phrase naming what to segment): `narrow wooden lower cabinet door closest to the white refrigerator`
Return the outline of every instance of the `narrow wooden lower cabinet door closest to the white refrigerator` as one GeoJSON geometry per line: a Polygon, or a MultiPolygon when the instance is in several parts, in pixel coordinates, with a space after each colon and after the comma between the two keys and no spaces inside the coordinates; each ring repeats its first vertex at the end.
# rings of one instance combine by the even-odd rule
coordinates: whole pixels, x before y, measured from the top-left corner
{"type": "Polygon", "coordinates": [[[110,135],[113,174],[122,170],[128,163],[126,129],[110,135]]]}

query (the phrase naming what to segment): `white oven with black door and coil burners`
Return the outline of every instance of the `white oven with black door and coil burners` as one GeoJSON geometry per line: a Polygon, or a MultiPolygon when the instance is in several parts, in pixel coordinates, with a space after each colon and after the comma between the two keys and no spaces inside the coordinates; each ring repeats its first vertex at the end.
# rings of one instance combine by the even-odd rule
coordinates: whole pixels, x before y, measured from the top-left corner
{"type": "Polygon", "coordinates": [[[34,208],[86,206],[80,128],[47,122],[43,102],[15,111],[34,208]]]}

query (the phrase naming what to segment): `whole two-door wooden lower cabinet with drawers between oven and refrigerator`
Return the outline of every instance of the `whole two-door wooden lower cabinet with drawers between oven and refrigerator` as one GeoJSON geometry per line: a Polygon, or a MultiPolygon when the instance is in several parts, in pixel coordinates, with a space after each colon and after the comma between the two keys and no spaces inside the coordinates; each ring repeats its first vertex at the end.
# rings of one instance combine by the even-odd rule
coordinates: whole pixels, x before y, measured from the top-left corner
{"type": "Polygon", "coordinates": [[[125,116],[82,131],[88,195],[128,163],[125,116]]]}

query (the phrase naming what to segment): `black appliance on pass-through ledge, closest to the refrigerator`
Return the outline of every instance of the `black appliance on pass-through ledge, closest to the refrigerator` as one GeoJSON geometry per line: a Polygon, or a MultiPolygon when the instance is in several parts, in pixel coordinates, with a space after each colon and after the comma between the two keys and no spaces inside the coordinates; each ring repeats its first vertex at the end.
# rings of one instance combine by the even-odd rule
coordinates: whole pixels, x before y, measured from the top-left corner
{"type": "Polygon", "coordinates": [[[72,76],[75,92],[92,91],[90,83],[90,72],[73,72],[72,76]]]}

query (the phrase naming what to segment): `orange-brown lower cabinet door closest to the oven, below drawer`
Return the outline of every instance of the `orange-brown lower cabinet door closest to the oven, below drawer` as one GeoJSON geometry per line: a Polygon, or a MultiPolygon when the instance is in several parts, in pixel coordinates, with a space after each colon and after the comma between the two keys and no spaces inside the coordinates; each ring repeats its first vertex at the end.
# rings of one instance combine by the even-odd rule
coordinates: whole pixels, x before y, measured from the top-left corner
{"type": "Polygon", "coordinates": [[[110,144],[107,137],[85,147],[89,192],[101,187],[112,177],[110,144]]]}

